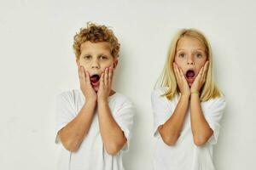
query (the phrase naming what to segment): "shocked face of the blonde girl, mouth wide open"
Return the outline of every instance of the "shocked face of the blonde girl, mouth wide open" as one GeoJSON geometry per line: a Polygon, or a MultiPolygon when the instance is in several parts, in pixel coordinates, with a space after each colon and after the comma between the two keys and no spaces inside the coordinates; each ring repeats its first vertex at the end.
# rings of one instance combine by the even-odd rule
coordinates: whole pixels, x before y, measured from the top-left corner
{"type": "Polygon", "coordinates": [[[182,37],[177,42],[174,62],[183,71],[191,87],[201,67],[207,62],[206,48],[193,37],[182,37]]]}

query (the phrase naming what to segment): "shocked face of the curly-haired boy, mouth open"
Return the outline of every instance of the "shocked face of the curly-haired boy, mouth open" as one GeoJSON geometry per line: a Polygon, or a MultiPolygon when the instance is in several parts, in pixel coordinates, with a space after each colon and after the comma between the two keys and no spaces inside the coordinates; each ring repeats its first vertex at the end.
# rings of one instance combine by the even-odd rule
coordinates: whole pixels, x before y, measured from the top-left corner
{"type": "Polygon", "coordinates": [[[84,70],[90,74],[90,83],[95,91],[98,91],[100,77],[107,67],[116,67],[118,59],[111,54],[108,42],[84,42],[81,44],[81,54],[77,59],[77,65],[84,66],[84,70]]]}

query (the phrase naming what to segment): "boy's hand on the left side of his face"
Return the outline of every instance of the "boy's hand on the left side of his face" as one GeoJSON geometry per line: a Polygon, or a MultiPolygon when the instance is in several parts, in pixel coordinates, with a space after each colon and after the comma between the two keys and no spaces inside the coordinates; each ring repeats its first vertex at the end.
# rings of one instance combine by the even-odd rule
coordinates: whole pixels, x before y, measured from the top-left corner
{"type": "Polygon", "coordinates": [[[96,101],[97,95],[90,84],[89,72],[85,71],[82,65],[79,65],[79,82],[85,99],[92,99],[93,101],[96,101]]]}

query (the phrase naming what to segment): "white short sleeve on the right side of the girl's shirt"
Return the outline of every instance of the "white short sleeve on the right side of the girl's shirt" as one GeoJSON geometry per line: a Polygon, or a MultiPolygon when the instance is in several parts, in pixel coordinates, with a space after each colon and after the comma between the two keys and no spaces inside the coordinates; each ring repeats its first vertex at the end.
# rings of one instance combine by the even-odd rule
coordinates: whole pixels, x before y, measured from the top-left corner
{"type": "Polygon", "coordinates": [[[213,131],[211,138],[208,140],[210,144],[216,144],[218,141],[220,121],[224,113],[225,105],[224,97],[220,97],[218,99],[212,99],[210,105],[206,105],[203,108],[204,116],[213,131]]]}

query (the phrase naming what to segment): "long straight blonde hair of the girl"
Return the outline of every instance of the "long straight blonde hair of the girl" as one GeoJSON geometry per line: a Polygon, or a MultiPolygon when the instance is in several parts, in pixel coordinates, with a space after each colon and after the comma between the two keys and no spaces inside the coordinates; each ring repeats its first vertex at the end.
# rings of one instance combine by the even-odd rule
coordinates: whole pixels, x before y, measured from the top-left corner
{"type": "Polygon", "coordinates": [[[199,40],[206,48],[205,50],[207,54],[207,60],[209,60],[209,65],[206,82],[201,88],[200,92],[201,101],[207,101],[208,99],[218,98],[223,95],[214,82],[212,71],[212,49],[210,43],[207,41],[207,38],[201,33],[201,31],[195,29],[182,29],[177,31],[176,36],[172,39],[172,43],[169,47],[169,51],[166,57],[165,67],[155,84],[155,88],[167,87],[165,94],[162,94],[162,96],[166,96],[167,99],[172,99],[175,94],[179,93],[172,63],[176,55],[177,42],[182,37],[195,38],[199,40]]]}

